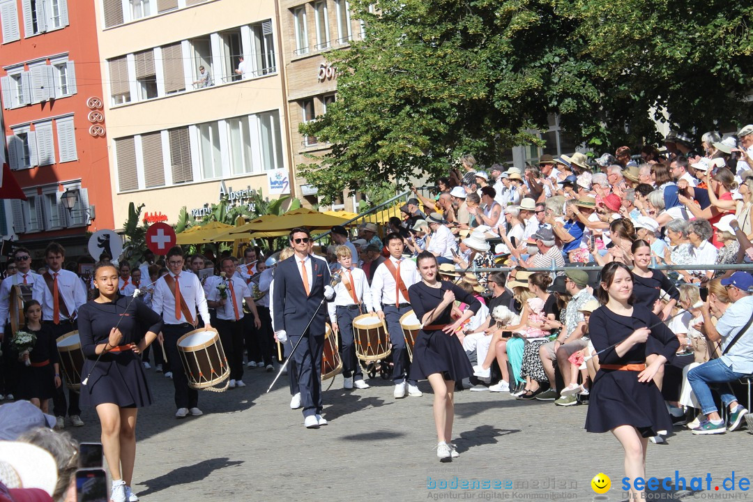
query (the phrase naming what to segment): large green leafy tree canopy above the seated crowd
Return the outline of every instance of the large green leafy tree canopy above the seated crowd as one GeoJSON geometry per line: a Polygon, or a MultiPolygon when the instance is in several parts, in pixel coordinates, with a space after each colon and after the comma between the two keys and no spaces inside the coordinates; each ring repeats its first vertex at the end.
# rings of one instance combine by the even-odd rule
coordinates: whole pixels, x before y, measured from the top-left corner
{"type": "Polygon", "coordinates": [[[753,19],[719,0],[351,0],[364,40],[326,54],[337,102],[301,132],[331,151],[300,166],[325,202],[342,190],[446,175],[540,141],[547,116],[597,149],[747,120],[753,19]]]}

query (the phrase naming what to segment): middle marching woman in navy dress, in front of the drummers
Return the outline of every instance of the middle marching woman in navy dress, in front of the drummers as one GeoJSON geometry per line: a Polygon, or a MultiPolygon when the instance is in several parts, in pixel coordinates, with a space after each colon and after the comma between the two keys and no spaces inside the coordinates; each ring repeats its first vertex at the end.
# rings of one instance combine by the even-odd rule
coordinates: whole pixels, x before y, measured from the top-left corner
{"type": "Polygon", "coordinates": [[[450,281],[437,280],[437,258],[423,251],[416,258],[422,281],[408,288],[410,305],[422,324],[413,348],[410,379],[427,379],[434,391],[434,424],[437,426],[437,457],[451,461],[458,456],[453,437],[455,382],[473,375],[468,356],[453,333],[471,318],[481,303],[450,281]],[[453,321],[450,314],[455,300],[468,305],[462,317],[453,321]]]}

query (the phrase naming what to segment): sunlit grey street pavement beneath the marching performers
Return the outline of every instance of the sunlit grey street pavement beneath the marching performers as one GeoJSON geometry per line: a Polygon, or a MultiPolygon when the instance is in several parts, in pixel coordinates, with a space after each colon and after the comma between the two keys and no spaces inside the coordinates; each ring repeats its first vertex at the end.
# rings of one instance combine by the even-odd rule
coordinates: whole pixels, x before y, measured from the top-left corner
{"type": "MultiPolygon", "coordinates": [[[[144,502],[599,500],[590,487],[599,472],[612,482],[608,499],[601,500],[625,498],[622,449],[611,434],[584,431],[587,406],[561,408],[514,400],[507,393],[459,392],[454,441],[460,458],[440,464],[428,382],[419,383],[423,397],[395,400],[390,382],[378,376],[364,391],[343,391],[342,377],[336,376],[324,394],[330,424],[307,430],[300,410],[288,406],[285,376],[264,394],[275,373],[246,370],[248,387],[201,391],[205,415],[176,420],[172,382],[154,370],[147,373],[157,403],[139,412],[133,482],[144,502]],[[472,479],[501,488],[438,488],[472,479]],[[437,488],[427,488],[432,482],[437,488]]],[[[85,410],[82,418],[85,427],[66,430],[81,441],[98,440],[96,414],[85,410]]],[[[660,491],[663,500],[753,500],[753,493],[721,487],[733,471],[736,483],[741,476],[753,477],[751,447],[753,435],[746,431],[699,437],[678,427],[668,444],[649,445],[647,473],[674,479],[679,470],[686,482],[704,478],[703,491],[660,491]]]]}

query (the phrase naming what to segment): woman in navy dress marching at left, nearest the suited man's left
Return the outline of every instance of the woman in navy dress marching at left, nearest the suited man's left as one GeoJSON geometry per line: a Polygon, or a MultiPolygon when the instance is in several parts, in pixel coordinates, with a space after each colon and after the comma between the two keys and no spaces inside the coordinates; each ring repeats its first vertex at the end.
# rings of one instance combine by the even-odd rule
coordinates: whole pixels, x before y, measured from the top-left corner
{"type": "Polygon", "coordinates": [[[78,334],[84,351],[81,405],[94,406],[102,424],[102,449],[112,476],[111,502],[139,500],[131,491],[136,458],[136,413],[151,404],[144,367],[136,354],[162,329],[162,318],[141,300],[123,297],[117,269],[97,263],[93,274],[99,296],[78,310],[78,334]],[[139,325],[147,327],[139,340],[139,325]],[[99,361],[97,361],[97,357],[99,361]]]}

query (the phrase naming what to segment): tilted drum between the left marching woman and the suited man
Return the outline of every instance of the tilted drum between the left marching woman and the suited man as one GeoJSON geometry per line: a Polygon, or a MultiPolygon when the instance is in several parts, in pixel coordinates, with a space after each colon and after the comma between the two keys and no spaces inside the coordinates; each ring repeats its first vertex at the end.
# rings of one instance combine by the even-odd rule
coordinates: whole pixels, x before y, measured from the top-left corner
{"type": "Polygon", "coordinates": [[[191,388],[211,388],[230,376],[217,330],[191,331],[178,338],[178,354],[191,388]]]}

